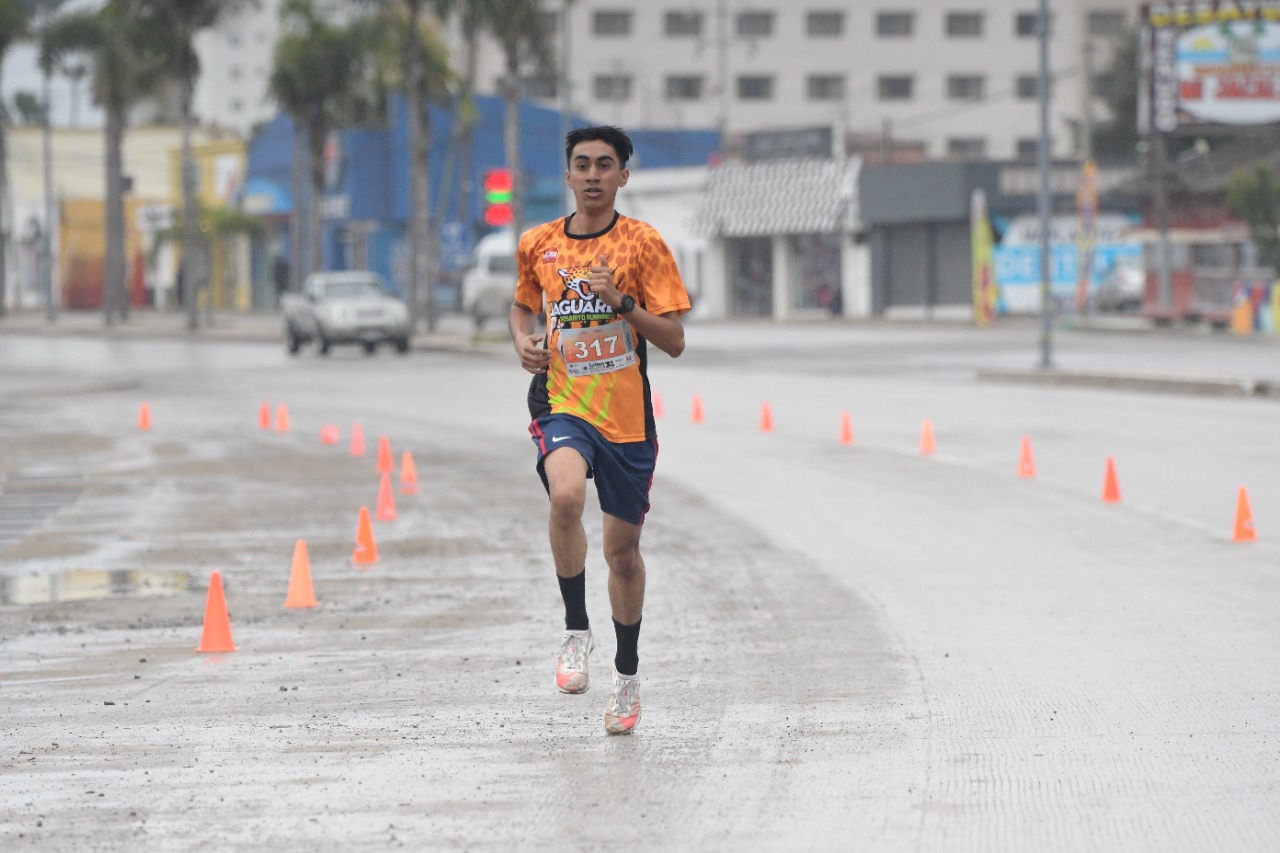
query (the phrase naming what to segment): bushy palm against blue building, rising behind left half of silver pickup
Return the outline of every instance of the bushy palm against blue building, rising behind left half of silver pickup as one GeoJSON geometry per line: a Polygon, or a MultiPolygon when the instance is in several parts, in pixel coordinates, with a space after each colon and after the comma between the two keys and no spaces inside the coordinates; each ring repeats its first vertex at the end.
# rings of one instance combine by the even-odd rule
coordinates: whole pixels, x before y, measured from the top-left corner
{"type": "Polygon", "coordinates": [[[360,60],[369,33],[364,26],[330,26],[316,13],[311,0],[285,0],[280,20],[284,23],[284,33],[275,42],[268,92],[293,119],[294,175],[300,175],[305,168],[311,181],[311,200],[306,215],[308,257],[302,256],[302,216],[298,210],[301,197],[294,199],[293,211],[292,265],[302,275],[303,272],[320,268],[324,145],[329,132],[344,117],[356,83],[361,79],[360,60]]]}

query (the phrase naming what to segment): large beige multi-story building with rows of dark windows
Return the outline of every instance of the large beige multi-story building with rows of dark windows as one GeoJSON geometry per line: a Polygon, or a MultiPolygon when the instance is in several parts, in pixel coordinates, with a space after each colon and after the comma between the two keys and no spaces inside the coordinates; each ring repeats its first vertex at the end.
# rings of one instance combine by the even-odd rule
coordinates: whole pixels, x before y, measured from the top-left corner
{"type": "MultiPolygon", "coordinates": [[[[735,134],[827,126],[872,151],[910,141],[929,158],[1034,158],[1036,0],[544,3],[567,61],[562,77],[525,81],[547,105],[625,127],[735,134]]],[[[1070,156],[1085,117],[1085,68],[1106,68],[1139,3],[1051,6],[1053,154],[1070,156]]],[[[499,91],[495,46],[484,47],[479,68],[481,91],[499,91]]],[[[1103,117],[1101,101],[1092,108],[1103,117]]]]}

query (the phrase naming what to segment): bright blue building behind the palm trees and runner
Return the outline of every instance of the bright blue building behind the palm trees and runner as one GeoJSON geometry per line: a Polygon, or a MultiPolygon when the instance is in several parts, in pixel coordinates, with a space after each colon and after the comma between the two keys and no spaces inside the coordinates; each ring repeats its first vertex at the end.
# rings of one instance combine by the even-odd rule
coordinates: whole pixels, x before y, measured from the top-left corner
{"type": "MultiPolygon", "coordinates": [[[[475,127],[463,150],[449,109],[430,108],[430,214],[440,240],[435,302],[457,304],[457,282],[484,225],[479,187],[489,169],[506,165],[503,129],[506,102],[492,96],[475,100],[475,127]]],[[[324,269],[371,269],[402,292],[408,284],[406,229],[410,219],[410,154],[403,99],[392,102],[388,129],[353,128],[334,133],[325,146],[325,195],[321,200],[324,269]]],[[[588,119],[573,117],[575,127],[588,119]]],[[[532,104],[520,105],[520,156],[527,191],[527,224],[564,213],[564,151],[561,114],[532,104]]],[[[718,147],[714,131],[641,131],[631,134],[634,167],[668,168],[705,164],[718,147]]],[[[255,137],[242,206],[269,224],[253,248],[253,306],[275,304],[279,259],[292,256],[289,218],[293,213],[293,122],[279,115],[255,137]]],[[[306,210],[310,182],[303,182],[298,207],[306,210]]]]}

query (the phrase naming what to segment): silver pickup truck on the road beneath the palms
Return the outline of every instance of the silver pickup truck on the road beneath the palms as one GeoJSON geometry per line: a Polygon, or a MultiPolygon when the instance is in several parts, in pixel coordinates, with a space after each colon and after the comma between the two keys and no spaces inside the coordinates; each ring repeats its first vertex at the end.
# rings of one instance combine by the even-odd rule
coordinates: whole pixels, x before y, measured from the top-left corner
{"type": "Polygon", "coordinates": [[[379,343],[408,352],[408,306],[378,273],[312,273],[302,293],[280,298],[284,341],[291,353],[315,341],[320,355],[335,343],[358,343],[372,355],[379,343]]]}

